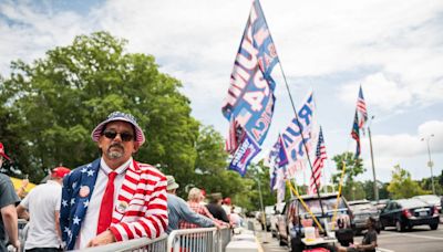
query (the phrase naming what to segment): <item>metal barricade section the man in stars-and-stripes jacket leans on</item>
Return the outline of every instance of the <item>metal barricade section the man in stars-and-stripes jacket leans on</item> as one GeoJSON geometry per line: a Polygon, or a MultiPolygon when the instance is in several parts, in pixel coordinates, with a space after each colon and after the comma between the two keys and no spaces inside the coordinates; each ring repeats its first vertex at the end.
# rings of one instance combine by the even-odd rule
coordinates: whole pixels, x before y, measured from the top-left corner
{"type": "Polygon", "coordinates": [[[107,245],[101,245],[95,248],[84,249],[82,251],[87,252],[164,252],[166,251],[167,245],[167,234],[162,234],[159,238],[156,239],[146,239],[146,238],[138,238],[130,241],[124,242],[115,242],[107,245]]]}

